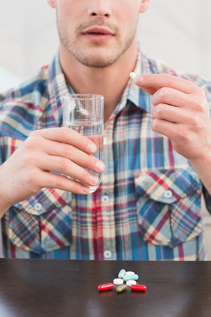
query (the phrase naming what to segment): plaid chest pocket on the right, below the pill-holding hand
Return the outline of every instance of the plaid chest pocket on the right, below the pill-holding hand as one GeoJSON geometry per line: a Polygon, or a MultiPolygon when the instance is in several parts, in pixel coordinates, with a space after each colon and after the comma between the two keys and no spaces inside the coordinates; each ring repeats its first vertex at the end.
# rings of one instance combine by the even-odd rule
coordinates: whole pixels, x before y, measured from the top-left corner
{"type": "Polygon", "coordinates": [[[139,228],[147,242],[175,246],[202,230],[201,183],[186,170],[154,170],[135,178],[139,228]]]}

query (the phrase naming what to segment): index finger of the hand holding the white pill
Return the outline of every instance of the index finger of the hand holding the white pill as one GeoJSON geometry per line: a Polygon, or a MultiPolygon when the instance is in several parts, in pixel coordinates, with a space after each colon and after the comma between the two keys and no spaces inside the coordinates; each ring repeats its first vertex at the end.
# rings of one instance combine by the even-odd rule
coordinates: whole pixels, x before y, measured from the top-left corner
{"type": "Polygon", "coordinates": [[[137,75],[134,83],[151,95],[162,87],[174,88],[186,94],[194,93],[198,88],[194,83],[170,74],[137,75]]]}

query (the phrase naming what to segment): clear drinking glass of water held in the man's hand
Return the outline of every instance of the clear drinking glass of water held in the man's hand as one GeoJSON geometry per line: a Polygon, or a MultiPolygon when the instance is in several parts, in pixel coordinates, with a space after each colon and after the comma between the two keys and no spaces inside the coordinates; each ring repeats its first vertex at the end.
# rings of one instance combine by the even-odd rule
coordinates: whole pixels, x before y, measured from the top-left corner
{"type": "MultiPolygon", "coordinates": [[[[97,151],[92,155],[101,161],[103,161],[103,115],[104,97],[101,95],[67,94],[64,96],[63,127],[91,139],[97,146],[97,151]]],[[[96,186],[90,186],[90,192],[94,192],[100,185],[103,174],[90,172],[99,178],[96,186]]]]}

